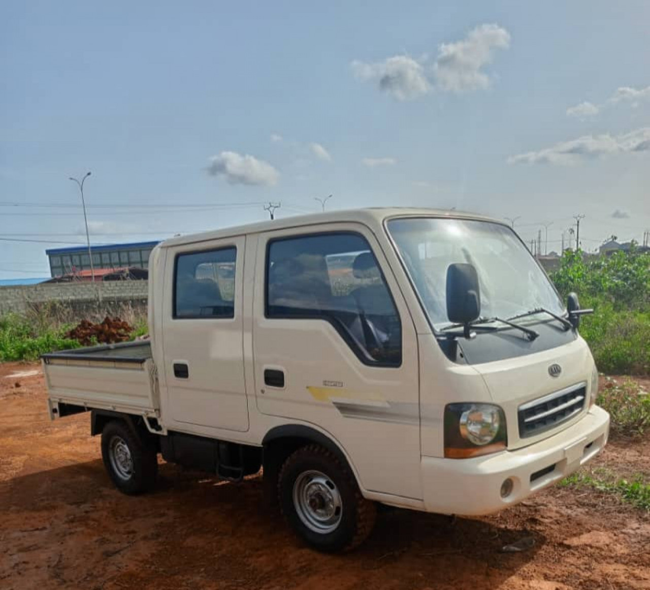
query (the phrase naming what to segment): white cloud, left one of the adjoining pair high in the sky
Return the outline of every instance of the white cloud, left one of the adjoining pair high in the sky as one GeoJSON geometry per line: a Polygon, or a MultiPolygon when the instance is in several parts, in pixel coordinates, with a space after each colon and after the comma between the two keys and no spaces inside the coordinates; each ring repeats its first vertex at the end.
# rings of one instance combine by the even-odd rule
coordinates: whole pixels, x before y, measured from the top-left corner
{"type": "Polygon", "coordinates": [[[378,80],[379,89],[397,100],[413,100],[432,89],[424,66],[407,55],[395,55],[374,64],[355,60],[352,71],[360,80],[378,80]]]}

